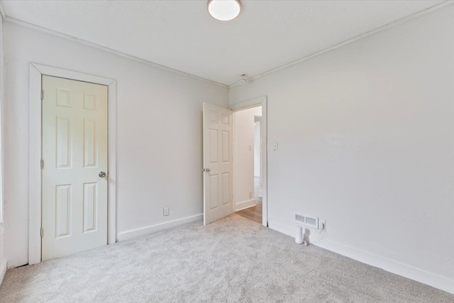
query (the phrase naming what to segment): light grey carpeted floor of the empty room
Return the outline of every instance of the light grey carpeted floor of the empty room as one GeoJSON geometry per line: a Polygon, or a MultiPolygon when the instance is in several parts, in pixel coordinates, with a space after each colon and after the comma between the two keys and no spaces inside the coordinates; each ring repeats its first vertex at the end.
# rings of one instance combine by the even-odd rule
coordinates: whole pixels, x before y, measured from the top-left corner
{"type": "Polygon", "coordinates": [[[453,302],[238,215],[6,272],[0,302],[453,302]]]}

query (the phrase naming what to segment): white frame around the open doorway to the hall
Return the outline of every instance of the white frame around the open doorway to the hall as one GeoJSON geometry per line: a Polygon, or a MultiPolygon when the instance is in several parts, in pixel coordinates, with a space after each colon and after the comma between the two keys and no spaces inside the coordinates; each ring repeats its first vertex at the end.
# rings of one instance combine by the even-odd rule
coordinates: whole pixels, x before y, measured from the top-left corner
{"type": "MultiPolygon", "coordinates": [[[[232,104],[229,109],[232,111],[243,111],[244,109],[252,109],[253,107],[262,106],[262,122],[260,123],[260,136],[262,137],[262,224],[268,226],[268,142],[267,142],[267,96],[262,96],[248,101],[232,104]]],[[[233,116],[233,136],[235,136],[235,116],[233,116]]],[[[235,141],[235,139],[233,139],[235,141]]],[[[235,148],[235,145],[233,145],[235,148]]],[[[235,162],[235,158],[233,158],[235,162]]],[[[235,170],[235,165],[233,165],[235,170]]],[[[233,172],[233,178],[235,178],[235,172],[233,172]]],[[[233,180],[233,193],[235,193],[235,180],[233,180]]],[[[233,203],[233,211],[235,211],[235,203],[233,203]]]]}

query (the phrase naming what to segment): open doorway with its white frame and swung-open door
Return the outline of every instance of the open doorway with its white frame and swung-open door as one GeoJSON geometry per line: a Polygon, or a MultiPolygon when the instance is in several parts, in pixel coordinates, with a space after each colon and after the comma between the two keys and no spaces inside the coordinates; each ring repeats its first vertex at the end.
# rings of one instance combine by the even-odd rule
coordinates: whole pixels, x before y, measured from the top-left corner
{"type": "Polygon", "coordinates": [[[249,219],[261,219],[268,226],[267,97],[233,104],[229,109],[204,103],[203,134],[204,225],[245,210],[255,212],[249,219]],[[255,133],[260,141],[254,140],[255,133]],[[260,159],[254,161],[255,154],[260,159]],[[257,175],[255,162],[260,165],[257,175]]]}

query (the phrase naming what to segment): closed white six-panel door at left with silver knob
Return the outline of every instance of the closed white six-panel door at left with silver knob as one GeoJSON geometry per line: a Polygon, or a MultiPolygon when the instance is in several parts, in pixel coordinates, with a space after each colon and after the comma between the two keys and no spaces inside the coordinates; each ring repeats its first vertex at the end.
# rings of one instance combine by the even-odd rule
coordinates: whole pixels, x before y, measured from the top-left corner
{"type": "Polygon", "coordinates": [[[106,86],[43,76],[42,260],[107,243],[107,122],[106,86]]]}

